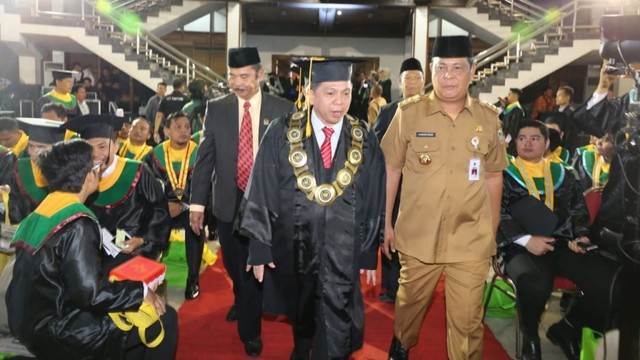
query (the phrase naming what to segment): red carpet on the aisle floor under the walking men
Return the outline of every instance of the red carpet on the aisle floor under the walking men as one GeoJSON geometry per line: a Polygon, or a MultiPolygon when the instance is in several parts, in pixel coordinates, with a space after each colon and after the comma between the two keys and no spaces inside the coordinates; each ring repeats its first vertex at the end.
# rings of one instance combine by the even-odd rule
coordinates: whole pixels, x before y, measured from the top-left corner
{"type": "MultiPolygon", "coordinates": [[[[200,297],[185,302],[178,312],[178,360],[249,359],[238,338],[236,323],[224,319],[232,301],[230,281],[221,258],[202,274],[200,297]]],[[[393,334],[393,305],[379,302],[379,292],[379,285],[375,288],[363,285],[365,344],[352,359],[387,359],[393,334]]],[[[422,327],[420,342],[411,349],[412,358],[446,360],[445,333],[444,289],[441,283],[422,327]]],[[[486,326],[484,334],[484,359],[510,359],[486,326]]],[[[264,349],[260,359],[289,359],[293,347],[291,328],[282,319],[263,319],[262,340],[264,349]]]]}

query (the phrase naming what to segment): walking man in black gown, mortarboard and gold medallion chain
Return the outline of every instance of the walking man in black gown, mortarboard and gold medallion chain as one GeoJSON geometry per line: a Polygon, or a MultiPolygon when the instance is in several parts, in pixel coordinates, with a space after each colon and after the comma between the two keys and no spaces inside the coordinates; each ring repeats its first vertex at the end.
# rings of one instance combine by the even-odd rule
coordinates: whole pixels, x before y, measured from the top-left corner
{"type": "Polygon", "coordinates": [[[250,240],[247,269],[264,279],[265,312],[292,318],[291,358],[346,359],[363,343],[359,271],[377,263],[384,159],[366,121],[346,115],[351,63],[303,68],[312,69],[311,107],[265,133],[240,232],[250,240]]]}

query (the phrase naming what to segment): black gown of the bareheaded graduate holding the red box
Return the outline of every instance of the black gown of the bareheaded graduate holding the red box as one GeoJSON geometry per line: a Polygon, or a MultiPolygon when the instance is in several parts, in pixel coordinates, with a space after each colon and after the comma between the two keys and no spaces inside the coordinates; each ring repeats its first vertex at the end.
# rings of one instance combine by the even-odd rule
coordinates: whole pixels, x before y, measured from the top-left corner
{"type": "Polygon", "coordinates": [[[6,302],[11,333],[40,359],[119,359],[126,335],[107,313],[137,309],[142,283],[102,273],[95,220],[83,216],[33,255],[16,250],[6,302]],[[62,276],[64,272],[64,276],[62,276]]]}

